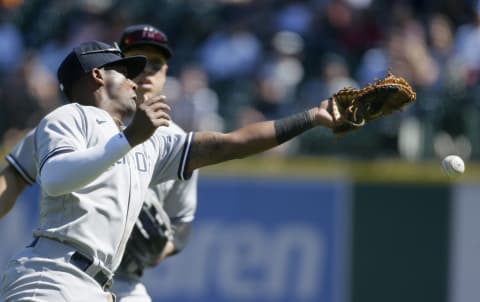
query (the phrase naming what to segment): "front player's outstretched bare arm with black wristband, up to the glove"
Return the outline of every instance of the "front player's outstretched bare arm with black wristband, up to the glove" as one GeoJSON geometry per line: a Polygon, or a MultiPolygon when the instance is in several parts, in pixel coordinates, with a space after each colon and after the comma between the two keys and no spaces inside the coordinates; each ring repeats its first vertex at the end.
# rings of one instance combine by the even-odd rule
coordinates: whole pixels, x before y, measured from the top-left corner
{"type": "Polygon", "coordinates": [[[331,128],[329,101],[290,117],[259,122],[230,133],[198,132],[190,148],[186,174],[197,168],[247,157],[278,146],[317,126],[331,128]]]}

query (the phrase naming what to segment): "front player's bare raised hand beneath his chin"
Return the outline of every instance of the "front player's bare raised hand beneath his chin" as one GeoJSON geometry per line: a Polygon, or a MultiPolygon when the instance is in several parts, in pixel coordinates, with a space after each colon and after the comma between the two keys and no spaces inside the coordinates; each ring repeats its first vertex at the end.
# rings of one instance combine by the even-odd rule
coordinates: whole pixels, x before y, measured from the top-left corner
{"type": "Polygon", "coordinates": [[[125,137],[131,146],[136,146],[147,140],[158,127],[170,124],[167,111],[170,106],[165,103],[165,96],[148,98],[137,104],[137,111],[131,123],[124,130],[125,137]]]}

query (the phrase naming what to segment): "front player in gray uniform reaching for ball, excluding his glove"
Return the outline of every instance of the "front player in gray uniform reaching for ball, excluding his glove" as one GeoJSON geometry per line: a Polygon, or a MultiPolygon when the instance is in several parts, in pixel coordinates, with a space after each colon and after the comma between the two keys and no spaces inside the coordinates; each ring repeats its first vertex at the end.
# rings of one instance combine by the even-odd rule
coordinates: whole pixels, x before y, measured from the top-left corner
{"type": "Polygon", "coordinates": [[[110,301],[106,289],[153,177],[185,180],[197,168],[265,151],[316,126],[334,126],[324,100],[230,133],[168,134],[162,131],[169,125],[162,98],[136,102],[137,85],[129,78],[145,63],[91,41],[60,65],[58,79],[72,103],[47,115],[35,131],[40,221],[35,240],[4,272],[3,300],[110,301]]]}

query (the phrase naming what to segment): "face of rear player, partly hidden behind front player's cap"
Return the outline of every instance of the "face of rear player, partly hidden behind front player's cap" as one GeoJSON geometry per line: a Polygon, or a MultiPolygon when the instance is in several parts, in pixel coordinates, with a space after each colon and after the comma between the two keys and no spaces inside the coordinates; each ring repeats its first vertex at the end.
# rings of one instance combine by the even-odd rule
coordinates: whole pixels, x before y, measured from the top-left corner
{"type": "Polygon", "coordinates": [[[155,47],[142,46],[141,48],[128,50],[125,52],[125,55],[142,55],[147,57],[147,65],[144,71],[134,79],[138,85],[138,99],[160,94],[163,85],[165,85],[168,69],[167,60],[163,53],[155,47]]]}

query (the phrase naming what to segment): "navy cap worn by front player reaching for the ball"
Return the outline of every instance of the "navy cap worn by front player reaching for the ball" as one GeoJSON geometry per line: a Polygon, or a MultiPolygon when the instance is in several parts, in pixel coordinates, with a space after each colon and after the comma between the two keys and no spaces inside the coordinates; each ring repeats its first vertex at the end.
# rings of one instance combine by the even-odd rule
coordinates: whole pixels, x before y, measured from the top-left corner
{"type": "Polygon", "coordinates": [[[57,79],[62,92],[71,98],[73,84],[94,68],[124,66],[127,69],[127,77],[133,79],[143,71],[146,63],[147,59],[144,56],[124,57],[118,47],[104,42],[89,41],[75,47],[65,57],[58,68],[57,79]]]}

